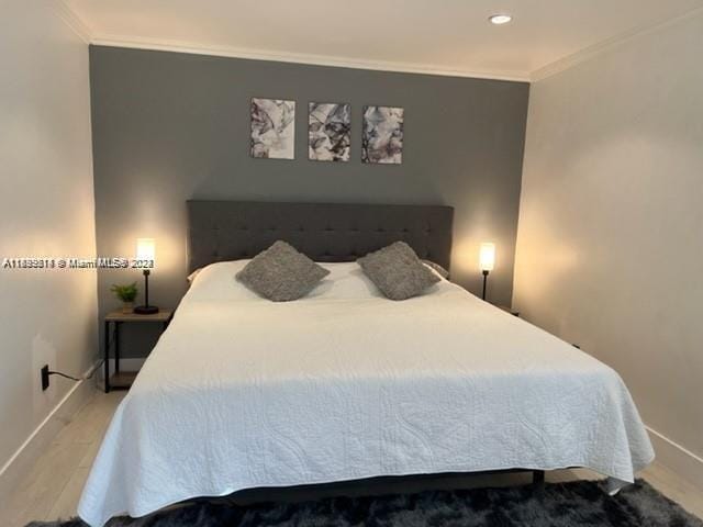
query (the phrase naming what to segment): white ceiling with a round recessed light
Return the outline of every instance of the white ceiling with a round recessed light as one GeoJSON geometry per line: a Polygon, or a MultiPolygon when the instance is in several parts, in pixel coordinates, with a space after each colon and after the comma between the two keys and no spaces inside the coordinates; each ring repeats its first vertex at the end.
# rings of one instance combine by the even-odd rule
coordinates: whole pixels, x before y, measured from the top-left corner
{"type": "Polygon", "coordinates": [[[96,44],[516,80],[703,9],[703,0],[56,1],[96,44]],[[488,22],[503,12],[513,22],[488,22]]]}

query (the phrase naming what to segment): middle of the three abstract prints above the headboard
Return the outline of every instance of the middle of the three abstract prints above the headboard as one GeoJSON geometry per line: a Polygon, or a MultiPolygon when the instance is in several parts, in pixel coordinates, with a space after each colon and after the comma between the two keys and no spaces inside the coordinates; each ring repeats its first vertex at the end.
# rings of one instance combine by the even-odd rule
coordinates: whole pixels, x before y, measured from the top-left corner
{"type": "Polygon", "coordinates": [[[352,144],[352,106],[311,102],[308,104],[308,158],[316,161],[348,161],[352,144]]]}

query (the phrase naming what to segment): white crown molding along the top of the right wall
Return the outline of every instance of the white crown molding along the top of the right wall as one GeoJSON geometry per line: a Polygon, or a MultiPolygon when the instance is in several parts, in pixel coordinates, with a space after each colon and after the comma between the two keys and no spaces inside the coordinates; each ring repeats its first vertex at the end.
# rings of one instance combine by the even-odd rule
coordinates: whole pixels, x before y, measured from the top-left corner
{"type": "Polygon", "coordinates": [[[687,21],[689,19],[693,19],[700,14],[703,14],[703,7],[692,9],[691,11],[687,11],[683,14],[680,14],[674,18],[660,20],[658,22],[654,22],[646,25],[637,26],[633,30],[621,33],[620,35],[613,36],[605,41],[599,42],[589,47],[584,47],[571,55],[567,55],[566,57],[561,57],[554,63],[547,64],[542,68],[534,70],[529,75],[531,82],[537,82],[539,80],[544,80],[548,77],[557,75],[561,71],[570,69],[581,63],[585,63],[592,58],[595,58],[600,55],[612,52],[613,49],[618,48],[620,46],[646,35],[650,35],[654,33],[658,33],[667,27],[676,25],[680,22],[687,21]]]}

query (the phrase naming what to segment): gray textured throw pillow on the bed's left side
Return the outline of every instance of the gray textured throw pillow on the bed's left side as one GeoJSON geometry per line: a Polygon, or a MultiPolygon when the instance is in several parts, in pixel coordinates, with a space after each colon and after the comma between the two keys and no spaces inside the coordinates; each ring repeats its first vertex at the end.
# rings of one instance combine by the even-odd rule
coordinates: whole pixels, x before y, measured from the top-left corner
{"type": "Polygon", "coordinates": [[[236,279],[268,300],[288,302],[305,296],[327,274],[327,269],[278,240],[244,266],[236,279]]]}

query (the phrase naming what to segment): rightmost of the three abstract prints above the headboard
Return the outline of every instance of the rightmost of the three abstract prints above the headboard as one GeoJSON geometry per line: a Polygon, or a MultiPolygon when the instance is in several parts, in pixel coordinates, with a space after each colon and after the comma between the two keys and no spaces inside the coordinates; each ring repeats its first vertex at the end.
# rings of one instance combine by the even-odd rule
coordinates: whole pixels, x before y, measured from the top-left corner
{"type": "Polygon", "coordinates": [[[361,161],[400,165],[403,160],[403,109],[364,106],[361,161]]]}

